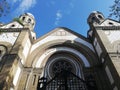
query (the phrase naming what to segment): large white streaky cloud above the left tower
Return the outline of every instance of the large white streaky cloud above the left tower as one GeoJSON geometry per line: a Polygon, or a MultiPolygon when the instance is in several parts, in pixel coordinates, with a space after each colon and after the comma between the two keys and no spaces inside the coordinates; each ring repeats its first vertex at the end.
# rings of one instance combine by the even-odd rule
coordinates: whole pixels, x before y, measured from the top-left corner
{"type": "MultiPolygon", "coordinates": [[[[36,0],[18,0],[21,1],[18,8],[16,9],[17,14],[24,13],[25,11],[29,10],[36,4],[36,0]]],[[[16,2],[16,0],[14,0],[16,2]]]]}

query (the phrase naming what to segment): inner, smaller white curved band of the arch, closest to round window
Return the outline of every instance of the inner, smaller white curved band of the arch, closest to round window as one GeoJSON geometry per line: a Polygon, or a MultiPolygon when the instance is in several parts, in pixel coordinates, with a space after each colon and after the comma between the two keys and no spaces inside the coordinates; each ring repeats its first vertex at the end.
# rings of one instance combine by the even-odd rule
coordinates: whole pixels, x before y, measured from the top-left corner
{"type": "Polygon", "coordinates": [[[52,48],[50,49],[49,51],[45,51],[40,57],[39,59],[33,63],[33,67],[35,68],[40,68],[41,65],[43,65],[43,61],[44,59],[46,58],[46,56],[50,56],[52,55],[53,53],[55,52],[59,52],[59,51],[65,51],[65,52],[70,52],[70,53],[73,53],[75,54],[76,56],[78,56],[84,63],[84,65],[86,67],[90,67],[90,63],[88,62],[87,58],[82,54],[80,53],[79,51],[75,50],[75,49],[72,49],[72,48],[68,48],[68,47],[59,47],[59,48],[52,48]],[[46,55],[46,52],[47,52],[47,55],[46,55]],[[49,52],[49,53],[48,53],[49,52]]]}

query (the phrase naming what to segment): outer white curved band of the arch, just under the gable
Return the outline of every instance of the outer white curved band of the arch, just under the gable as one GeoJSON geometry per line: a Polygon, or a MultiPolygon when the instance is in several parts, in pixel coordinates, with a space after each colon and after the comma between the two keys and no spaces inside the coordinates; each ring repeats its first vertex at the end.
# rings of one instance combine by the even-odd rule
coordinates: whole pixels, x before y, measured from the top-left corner
{"type": "Polygon", "coordinates": [[[46,38],[44,38],[44,39],[38,41],[37,43],[33,44],[30,53],[32,53],[36,48],[38,48],[40,46],[42,47],[43,44],[51,42],[51,41],[56,41],[56,40],[58,40],[61,43],[65,42],[65,41],[68,41],[68,40],[70,40],[72,42],[78,42],[78,43],[83,44],[86,47],[90,48],[93,52],[95,52],[91,43],[89,43],[86,40],[84,40],[82,38],[79,38],[79,37],[67,32],[67,31],[66,31],[66,33],[67,33],[66,36],[55,36],[55,33],[51,34],[50,36],[47,36],[46,38]]]}

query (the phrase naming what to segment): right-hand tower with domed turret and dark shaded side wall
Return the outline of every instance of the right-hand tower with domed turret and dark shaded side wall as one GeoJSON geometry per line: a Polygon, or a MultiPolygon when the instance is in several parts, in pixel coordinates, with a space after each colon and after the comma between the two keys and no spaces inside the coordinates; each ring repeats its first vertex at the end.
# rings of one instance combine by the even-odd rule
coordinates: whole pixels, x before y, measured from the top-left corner
{"type": "Polygon", "coordinates": [[[90,30],[88,37],[91,39],[95,51],[102,65],[102,76],[106,90],[120,89],[120,23],[105,19],[102,13],[93,12],[88,17],[90,30]],[[94,17],[94,18],[93,18],[94,17]],[[109,87],[109,88],[107,88],[109,87]]]}

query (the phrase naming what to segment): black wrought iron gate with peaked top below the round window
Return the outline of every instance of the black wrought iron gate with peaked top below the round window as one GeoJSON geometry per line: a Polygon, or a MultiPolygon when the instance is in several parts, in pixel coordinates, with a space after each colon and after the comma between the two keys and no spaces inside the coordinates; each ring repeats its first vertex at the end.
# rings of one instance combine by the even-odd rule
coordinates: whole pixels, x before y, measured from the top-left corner
{"type": "Polygon", "coordinates": [[[50,81],[47,78],[38,80],[37,90],[87,90],[86,82],[73,74],[63,70],[50,81]]]}

